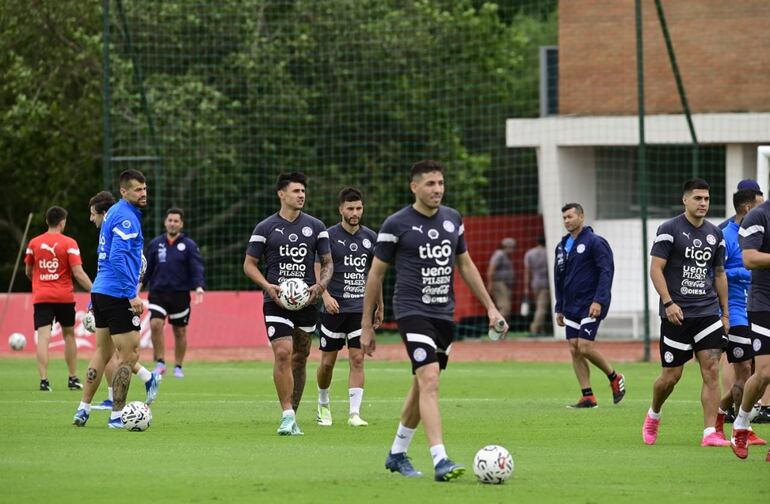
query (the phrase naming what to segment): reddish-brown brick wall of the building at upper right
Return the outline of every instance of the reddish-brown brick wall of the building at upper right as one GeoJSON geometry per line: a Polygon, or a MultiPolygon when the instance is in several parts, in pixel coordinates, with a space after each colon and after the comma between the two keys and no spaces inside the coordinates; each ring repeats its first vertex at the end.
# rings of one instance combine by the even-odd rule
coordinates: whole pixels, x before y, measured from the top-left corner
{"type": "MultiPolygon", "coordinates": [[[[634,0],[559,2],[559,113],[637,112],[634,0]]],[[[770,111],[770,0],[663,0],[695,112],[770,111]]],[[[643,0],[645,107],[682,107],[653,0],[643,0]]]]}

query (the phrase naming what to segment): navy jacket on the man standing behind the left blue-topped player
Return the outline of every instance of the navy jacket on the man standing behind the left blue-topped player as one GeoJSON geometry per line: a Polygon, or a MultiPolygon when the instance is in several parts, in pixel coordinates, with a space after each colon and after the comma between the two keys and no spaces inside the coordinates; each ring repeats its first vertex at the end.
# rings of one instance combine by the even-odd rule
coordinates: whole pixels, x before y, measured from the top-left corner
{"type": "Polygon", "coordinates": [[[144,253],[147,258],[145,285],[150,292],[181,292],[205,287],[203,260],[198,245],[180,234],[169,243],[166,234],[156,236],[144,253]]]}

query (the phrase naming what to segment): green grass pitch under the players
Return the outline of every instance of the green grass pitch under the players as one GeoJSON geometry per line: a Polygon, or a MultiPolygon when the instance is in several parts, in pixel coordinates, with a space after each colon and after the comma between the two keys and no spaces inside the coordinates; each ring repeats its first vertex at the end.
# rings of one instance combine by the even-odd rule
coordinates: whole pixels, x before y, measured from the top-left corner
{"type": "MultiPolygon", "coordinates": [[[[619,368],[628,395],[618,406],[606,379],[594,374],[600,407],[583,411],[565,408],[578,398],[568,364],[450,363],[441,383],[445,444],[469,466],[450,483],[432,480],[421,429],[409,453],[425,477],[383,468],[411,379],[408,363],[367,363],[361,414],[371,425],[358,429],[345,422],[344,360],[332,385],[335,424],[315,425],[316,366],[309,363],[298,414],[305,436],[279,437],[268,363],[193,362],[184,380],[167,374],[152,427],[131,433],[108,430],[102,411],[85,428],[71,425],[80,393],[66,390],[61,359],[51,363],[53,393],[35,390],[32,360],[2,360],[0,502],[750,502],[770,487],[766,447],[739,461],[729,448],[699,446],[694,365],[649,447],[640,431],[657,365],[619,368]],[[513,455],[515,471],[503,485],[473,476],[473,455],[486,444],[513,455]]],[[[129,399],[142,400],[143,392],[134,379],[129,399]]],[[[756,431],[770,437],[770,426],[756,431]]]]}

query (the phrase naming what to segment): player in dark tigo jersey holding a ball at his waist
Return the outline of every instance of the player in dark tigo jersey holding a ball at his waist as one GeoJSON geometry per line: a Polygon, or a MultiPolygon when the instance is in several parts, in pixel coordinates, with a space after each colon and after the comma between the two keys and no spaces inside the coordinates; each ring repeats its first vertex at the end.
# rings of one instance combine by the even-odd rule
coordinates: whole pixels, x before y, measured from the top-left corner
{"type": "Polygon", "coordinates": [[[329,285],[333,266],[329,232],[323,222],[302,211],[307,177],[301,172],[282,173],[276,190],[280,210],[254,228],[246,250],[243,271],[265,293],[267,337],[273,349],[273,382],[283,414],[278,434],[301,436],[296,411],[305,389],[310,333],[318,322],[315,301],[329,285]],[[315,257],[321,269],[316,278],[315,257]],[[264,260],[265,273],[259,270],[264,260]],[[300,278],[310,286],[310,299],[301,310],[290,311],[278,298],[281,282],[300,278]]]}

